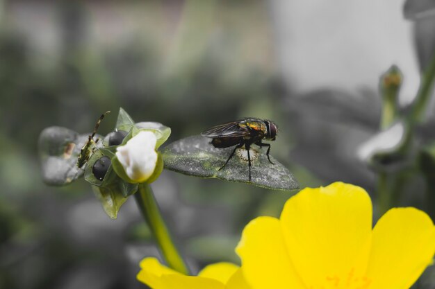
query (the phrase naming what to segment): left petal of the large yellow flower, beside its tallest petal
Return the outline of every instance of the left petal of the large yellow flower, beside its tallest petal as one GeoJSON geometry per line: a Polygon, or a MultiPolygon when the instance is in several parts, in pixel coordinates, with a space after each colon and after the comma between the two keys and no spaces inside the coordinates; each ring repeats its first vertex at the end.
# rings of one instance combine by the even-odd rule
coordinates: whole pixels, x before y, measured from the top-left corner
{"type": "Polygon", "coordinates": [[[249,222],[236,252],[252,288],[304,288],[288,258],[277,218],[259,217],[249,222]]]}

